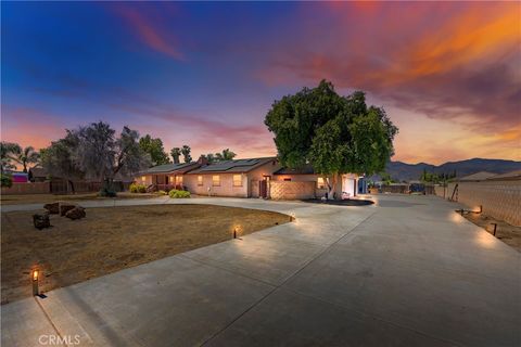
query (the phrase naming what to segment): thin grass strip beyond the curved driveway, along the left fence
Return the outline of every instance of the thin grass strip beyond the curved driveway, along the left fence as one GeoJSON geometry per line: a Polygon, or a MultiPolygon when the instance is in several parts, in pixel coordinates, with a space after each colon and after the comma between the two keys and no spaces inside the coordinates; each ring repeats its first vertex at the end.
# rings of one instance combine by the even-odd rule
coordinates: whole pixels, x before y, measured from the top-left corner
{"type": "MultiPolygon", "coordinates": [[[[157,197],[155,194],[132,194],[128,192],[117,193],[116,198],[150,198],[157,197]]],[[[107,200],[111,197],[101,197],[98,196],[98,193],[78,193],[78,194],[66,194],[66,195],[54,195],[54,194],[21,194],[21,195],[2,195],[1,204],[2,205],[21,205],[21,204],[47,204],[54,203],[58,201],[67,201],[67,202],[81,202],[86,200],[107,200]]]]}

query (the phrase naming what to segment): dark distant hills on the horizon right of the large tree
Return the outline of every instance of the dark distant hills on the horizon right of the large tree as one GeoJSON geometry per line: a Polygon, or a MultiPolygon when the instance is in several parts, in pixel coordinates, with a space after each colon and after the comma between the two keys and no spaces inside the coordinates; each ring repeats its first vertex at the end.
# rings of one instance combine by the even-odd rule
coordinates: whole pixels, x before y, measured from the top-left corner
{"type": "Polygon", "coordinates": [[[390,162],[386,166],[386,172],[389,172],[394,180],[398,181],[418,180],[423,169],[434,174],[452,174],[456,170],[457,177],[463,177],[479,171],[506,174],[521,170],[521,162],[473,158],[460,162],[448,162],[439,166],[427,163],[407,164],[402,162],[390,162]]]}

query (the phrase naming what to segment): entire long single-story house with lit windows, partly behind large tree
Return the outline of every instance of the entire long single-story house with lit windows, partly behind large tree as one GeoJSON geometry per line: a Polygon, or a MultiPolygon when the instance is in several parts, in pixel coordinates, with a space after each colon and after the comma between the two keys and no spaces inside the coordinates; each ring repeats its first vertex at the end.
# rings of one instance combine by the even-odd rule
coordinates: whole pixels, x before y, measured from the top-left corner
{"type": "MultiPolygon", "coordinates": [[[[341,175],[332,193],[338,198],[356,196],[359,179],[355,174],[341,175]]],[[[136,182],[155,190],[183,189],[207,196],[302,200],[320,198],[328,193],[327,180],[310,165],[282,168],[272,156],[160,165],[141,172],[136,182]]]]}

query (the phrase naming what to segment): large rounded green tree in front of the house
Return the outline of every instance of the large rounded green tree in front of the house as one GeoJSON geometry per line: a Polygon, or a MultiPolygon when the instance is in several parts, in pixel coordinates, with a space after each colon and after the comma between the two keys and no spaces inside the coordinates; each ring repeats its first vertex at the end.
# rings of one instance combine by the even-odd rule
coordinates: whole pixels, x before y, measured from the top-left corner
{"type": "Polygon", "coordinates": [[[326,80],[276,101],[265,124],[275,134],[281,164],[310,164],[330,193],[342,174],[382,171],[398,131],[383,108],[367,106],[364,92],[342,97],[326,80]]]}

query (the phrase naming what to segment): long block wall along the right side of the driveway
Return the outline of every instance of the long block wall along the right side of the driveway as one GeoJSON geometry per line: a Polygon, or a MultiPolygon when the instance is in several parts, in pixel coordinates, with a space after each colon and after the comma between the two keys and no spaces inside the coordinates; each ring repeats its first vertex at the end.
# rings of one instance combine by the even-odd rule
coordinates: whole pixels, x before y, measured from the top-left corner
{"type": "MultiPolygon", "coordinates": [[[[445,198],[450,198],[456,183],[448,183],[445,198]]],[[[436,188],[443,197],[443,187],[436,188]]],[[[455,201],[471,209],[483,206],[483,213],[512,226],[521,226],[521,180],[459,182],[455,201]]]]}

